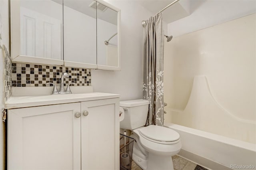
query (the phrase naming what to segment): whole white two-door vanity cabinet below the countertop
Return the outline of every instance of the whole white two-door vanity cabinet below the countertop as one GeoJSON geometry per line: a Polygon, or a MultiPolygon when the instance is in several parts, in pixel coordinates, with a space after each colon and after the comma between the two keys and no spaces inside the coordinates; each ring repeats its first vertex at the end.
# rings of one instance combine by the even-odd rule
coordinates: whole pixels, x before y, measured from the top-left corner
{"type": "Polygon", "coordinates": [[[8,110],[8,170],[119,169],[119,98],[8,110]]]}

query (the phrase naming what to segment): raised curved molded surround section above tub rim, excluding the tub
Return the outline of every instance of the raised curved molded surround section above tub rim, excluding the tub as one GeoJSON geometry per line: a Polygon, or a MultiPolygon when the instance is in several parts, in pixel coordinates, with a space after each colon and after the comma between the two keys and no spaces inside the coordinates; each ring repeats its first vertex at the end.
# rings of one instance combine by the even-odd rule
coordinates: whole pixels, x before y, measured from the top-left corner
{"type": "Polygon", "coordinates": [[[255,144],[256,123],[226,110],[211,87],[206,76],[195,76],[188,103],[184,110],[172,111],[172,123],[255,144]]]}

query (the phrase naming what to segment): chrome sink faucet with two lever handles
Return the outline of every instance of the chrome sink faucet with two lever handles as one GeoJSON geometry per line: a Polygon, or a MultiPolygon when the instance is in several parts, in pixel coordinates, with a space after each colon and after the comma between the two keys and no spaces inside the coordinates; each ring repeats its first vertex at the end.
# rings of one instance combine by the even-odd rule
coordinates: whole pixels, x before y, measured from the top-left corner
{"type": "Polygon", "coordinates": [[[66,91],[64,90],[64,77],[68,77],[68,73],[63,72],[60,77],[60,90],[58,91],[56,85],[54,83],[46,83],[45,85],[52,84],[53,85],[53,91],[52,95],[60,95],[60,94],[72,94],[70,90],[70,85],[73,84],[75,85],[76,83],[68,83],[68,86],[66,88],[66,91]]]}

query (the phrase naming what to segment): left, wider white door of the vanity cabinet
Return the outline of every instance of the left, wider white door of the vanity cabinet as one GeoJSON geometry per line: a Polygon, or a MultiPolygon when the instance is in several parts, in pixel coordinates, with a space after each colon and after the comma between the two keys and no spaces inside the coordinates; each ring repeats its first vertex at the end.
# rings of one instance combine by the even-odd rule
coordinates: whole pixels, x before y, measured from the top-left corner
{"type": "Polygon", "coordinates": [[[8,110],[8,170],[80,170],[80,103],[8,110]]]}

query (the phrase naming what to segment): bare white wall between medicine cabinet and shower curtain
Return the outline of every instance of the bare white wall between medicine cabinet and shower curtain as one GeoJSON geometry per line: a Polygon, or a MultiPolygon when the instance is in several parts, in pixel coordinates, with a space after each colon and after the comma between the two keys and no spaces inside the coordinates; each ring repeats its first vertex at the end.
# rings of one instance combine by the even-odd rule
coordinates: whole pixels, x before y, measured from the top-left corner
{"type": "Polygon", "coordinates": [[[144,29],[142,20],[151,14],[137,1],[108,0],[121,9],[121,71],[92,69],[94,91],[118,93],[121,100],[142,98],[144,29]]]}

